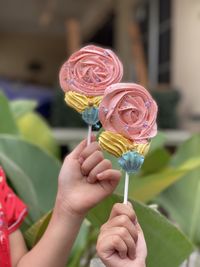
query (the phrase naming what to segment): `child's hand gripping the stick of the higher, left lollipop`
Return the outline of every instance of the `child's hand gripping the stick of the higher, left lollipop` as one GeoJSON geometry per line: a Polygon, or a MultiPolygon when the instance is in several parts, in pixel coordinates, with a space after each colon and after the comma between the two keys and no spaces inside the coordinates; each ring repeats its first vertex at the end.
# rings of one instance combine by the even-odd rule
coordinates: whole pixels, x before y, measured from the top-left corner
{"type": "Polygon", "coordinates": [[[112,170],[100,146],[92,137],[87,146],[81,142],[66,158],[59,175],[57,202],[59,207],[75,215],[85,213],[116,188],[121,173],[112,170]]]}

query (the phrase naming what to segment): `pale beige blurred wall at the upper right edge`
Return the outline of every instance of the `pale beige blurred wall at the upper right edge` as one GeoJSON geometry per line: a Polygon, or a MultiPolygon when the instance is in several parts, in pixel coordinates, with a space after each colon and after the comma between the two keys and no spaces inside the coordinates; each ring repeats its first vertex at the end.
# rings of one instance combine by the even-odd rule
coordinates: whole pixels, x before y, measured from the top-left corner
{"type": "Polygon", "coordinates": [[[172,1],[172,83],[182,115],[200,115],[200,1],[172,1]]]}

